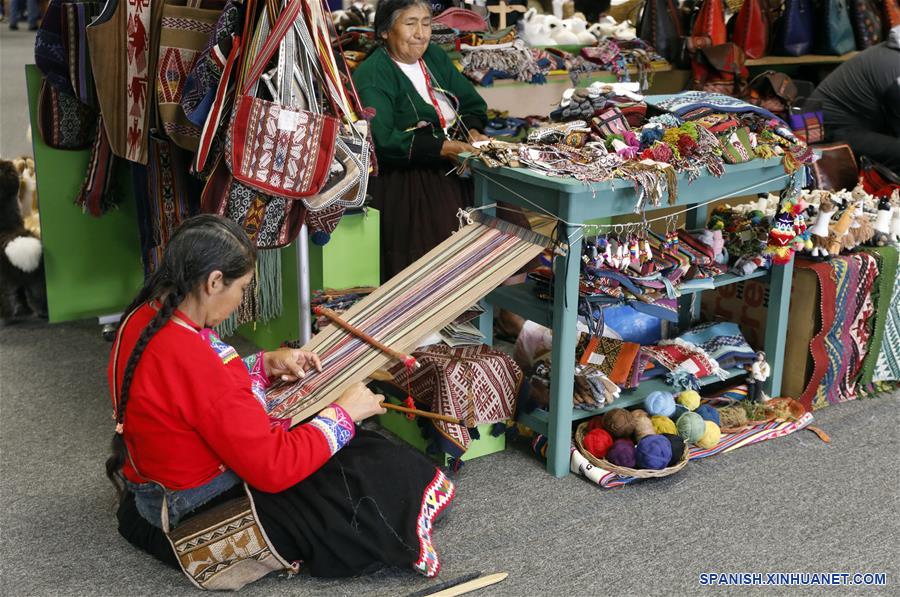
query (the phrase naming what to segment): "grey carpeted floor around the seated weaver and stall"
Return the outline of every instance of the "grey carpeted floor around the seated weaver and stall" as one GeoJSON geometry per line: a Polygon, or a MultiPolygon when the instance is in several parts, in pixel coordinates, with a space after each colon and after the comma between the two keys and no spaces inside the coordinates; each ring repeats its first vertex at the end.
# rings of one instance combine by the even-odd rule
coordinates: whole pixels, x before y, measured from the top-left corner
{"type": "MultiPolygon", "coordinates": [[[[0,155],[30,154],[22,65],[33,34],[0,24],[0,155]]],[[[109,344],[92,322],[0,329],[0,593],[194,593],[116,533],[103,474],[109,344]]],[[[521,447],[470,462],[436,532],[440,579],[509,572],[490,595],[693,595],[714,572],[887,572],[897,594],[900,396],[828,408],[809,432],[616,491],[549,477],[521,447]]],[[[248,595],[406,595],[405,570],[339,581],[266,579],[248,595]]],[[[765,589],[761,595],[820,593],[765,589]]],[[[846,594],[846,589],[827,591],[846,594]]]]}

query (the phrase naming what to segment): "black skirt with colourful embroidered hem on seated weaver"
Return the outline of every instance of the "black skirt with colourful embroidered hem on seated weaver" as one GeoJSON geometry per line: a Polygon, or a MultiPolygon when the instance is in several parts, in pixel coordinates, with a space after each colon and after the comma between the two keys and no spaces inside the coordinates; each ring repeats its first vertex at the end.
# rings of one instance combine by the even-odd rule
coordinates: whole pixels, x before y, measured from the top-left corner
{"type": "MultiPolygon", "coordinates": [[[[385,566],[434,576],[440,569],[431,530],[453,499],[453,485],[424,456],[375,432],[357,429],[321,469],[285,491],[251,493],[272,546],[313,576],[385,566]]],[[[204,509],[234,496],[221,497],[204,509]]],[[[177,566],[165,535],[138,514],[132,496],[123,499],[118,519],[133,545],[177,566]]]]}

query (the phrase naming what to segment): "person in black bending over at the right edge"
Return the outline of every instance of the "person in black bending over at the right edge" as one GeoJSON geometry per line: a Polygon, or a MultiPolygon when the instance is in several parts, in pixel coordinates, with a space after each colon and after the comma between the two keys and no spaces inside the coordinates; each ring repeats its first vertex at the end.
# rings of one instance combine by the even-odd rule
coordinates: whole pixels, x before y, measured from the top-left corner
{"type": "Polygon", "coordinates": [[[900,174],[900,27],[836,68],[810,100],[822,103],[827,141],[900,174]]]}

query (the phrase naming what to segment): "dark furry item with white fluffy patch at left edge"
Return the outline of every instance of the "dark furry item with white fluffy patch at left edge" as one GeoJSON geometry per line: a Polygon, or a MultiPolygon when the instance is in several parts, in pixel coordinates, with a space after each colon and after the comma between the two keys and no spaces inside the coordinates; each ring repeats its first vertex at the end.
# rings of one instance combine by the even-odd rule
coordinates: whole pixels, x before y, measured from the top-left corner
{"type": "Polygon", "coordinates": [[[25,229],[19,172],[0,160],[0,323],[47,316],[41,241],[25,229]]]}

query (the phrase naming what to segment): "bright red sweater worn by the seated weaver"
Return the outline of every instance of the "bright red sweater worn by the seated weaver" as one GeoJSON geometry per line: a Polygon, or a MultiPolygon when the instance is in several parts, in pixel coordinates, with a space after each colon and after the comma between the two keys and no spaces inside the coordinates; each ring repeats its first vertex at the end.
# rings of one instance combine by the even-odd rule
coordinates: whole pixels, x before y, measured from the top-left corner
{"type": "MultiPolygon", "coordinates": [[[[120,387],[128,356],[155,313],[144,305],[120,331],[115,371],[120,387]]],[[[237,354],[220,357],[199,326],[176,314],[193,329],[169,321],[156,333],[138,362],[125,408],[125,442],[141,473],[177,490],[231,469],[256,489],[274,493],[318,470],[336,451],[321,425],[290,431],[271,425],[237,354]]],[[[111,394],[114,355],[115,348],[108,371],[111,394]]],[[[123,472],[136,483],[147,481],[128,462],[123,472]]]]}

